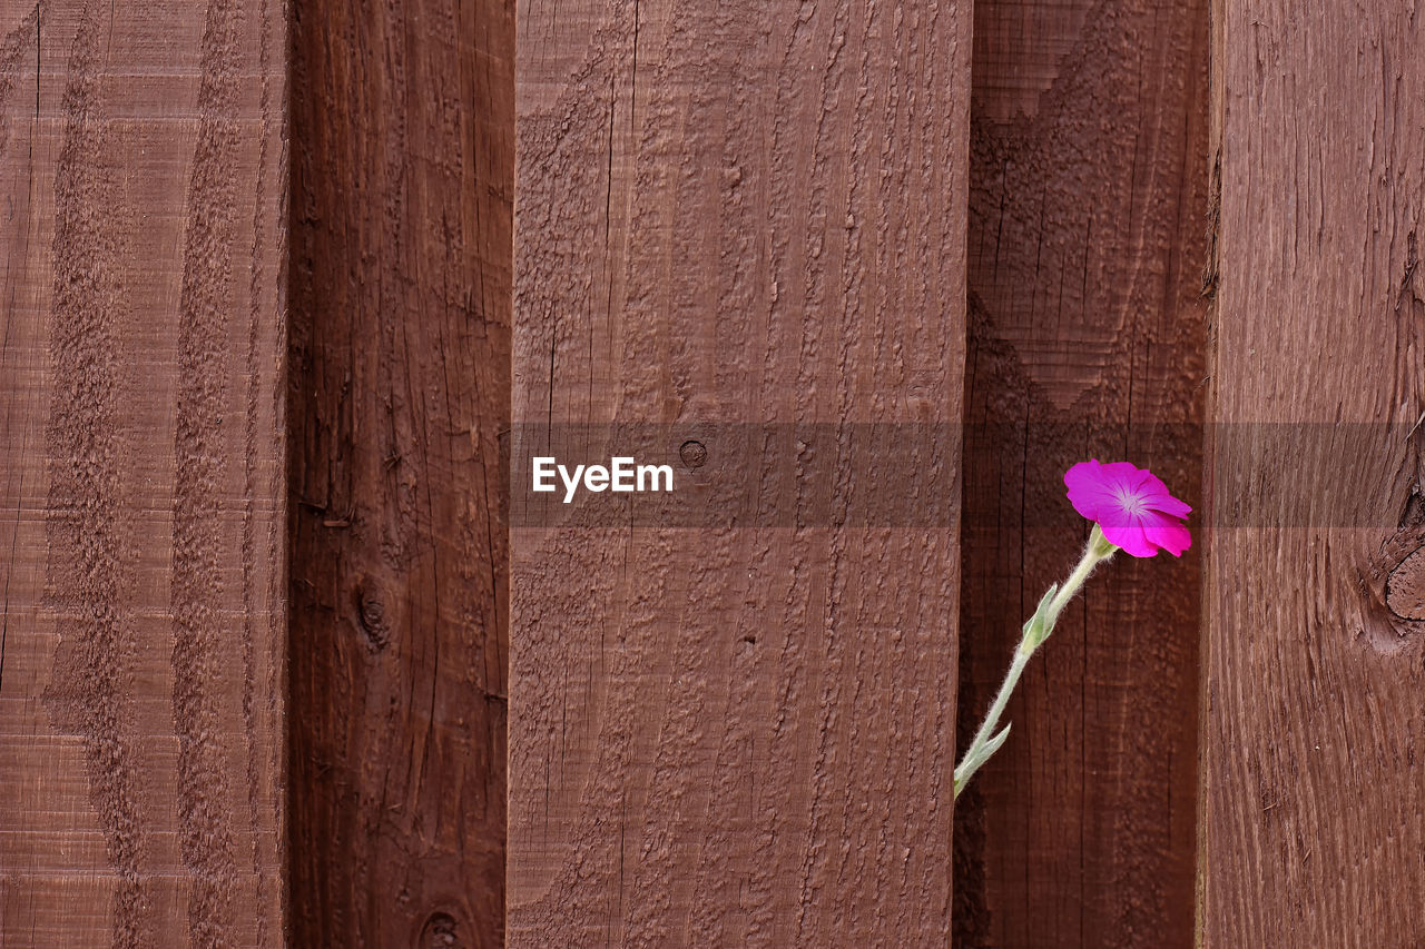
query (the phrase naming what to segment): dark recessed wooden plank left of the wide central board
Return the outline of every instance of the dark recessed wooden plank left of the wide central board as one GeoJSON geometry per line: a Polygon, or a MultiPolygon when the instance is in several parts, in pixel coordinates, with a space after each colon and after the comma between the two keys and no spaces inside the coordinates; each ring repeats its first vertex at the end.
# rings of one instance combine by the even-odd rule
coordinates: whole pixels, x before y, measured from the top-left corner
{"type": "Polygon", "coordinates": [[[299,946],[500,946],[513,9],[294,9],[299,946]]]}

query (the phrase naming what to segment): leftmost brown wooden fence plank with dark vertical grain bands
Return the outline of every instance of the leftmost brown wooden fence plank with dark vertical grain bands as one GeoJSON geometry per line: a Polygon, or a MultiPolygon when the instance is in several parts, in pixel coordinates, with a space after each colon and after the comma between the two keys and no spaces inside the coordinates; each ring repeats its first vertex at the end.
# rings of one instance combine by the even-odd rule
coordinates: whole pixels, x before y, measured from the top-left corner
{"type": "Polygon", "coordinates": [[[281,4],[0,4],[0,942],[282,942],[281,4]]]}

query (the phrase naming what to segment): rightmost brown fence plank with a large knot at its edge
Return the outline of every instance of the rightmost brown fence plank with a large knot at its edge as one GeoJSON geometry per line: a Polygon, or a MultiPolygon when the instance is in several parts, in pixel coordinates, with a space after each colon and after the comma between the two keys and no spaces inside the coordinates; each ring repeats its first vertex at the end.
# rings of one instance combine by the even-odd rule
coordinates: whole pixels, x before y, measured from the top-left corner
{"type": "Polygon", "coordinates": [[[1223,4],[1207,946],[1425,942],[1425,23],[1223,4]]]}

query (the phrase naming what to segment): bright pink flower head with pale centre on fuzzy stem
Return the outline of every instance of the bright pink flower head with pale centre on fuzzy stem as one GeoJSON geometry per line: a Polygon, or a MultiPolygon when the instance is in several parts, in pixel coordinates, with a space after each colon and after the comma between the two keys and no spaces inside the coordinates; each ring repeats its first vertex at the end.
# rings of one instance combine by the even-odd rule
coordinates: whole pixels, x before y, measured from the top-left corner
{"type": "Polygon", "coordinates": [[[1109,543],[1134,557],[1151,557],[1159,549],[1181,557],[1193,543],[1180,520],[1193,509],[1173,497],[1153,472],[1093,459],[1064,472],[1064,484],[1074,510],[1099,522],[1109,543]]]}

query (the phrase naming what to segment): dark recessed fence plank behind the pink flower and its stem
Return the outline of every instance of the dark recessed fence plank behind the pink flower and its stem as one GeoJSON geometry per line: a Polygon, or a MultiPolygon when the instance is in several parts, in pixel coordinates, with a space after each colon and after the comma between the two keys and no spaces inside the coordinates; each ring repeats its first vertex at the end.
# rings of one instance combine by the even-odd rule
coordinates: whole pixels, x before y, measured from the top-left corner
{"type": "MultiPolygon", "coordinates": [[[[1089,524],[1063,472],[1198,506],[1206,3],[975,4],[960,747],[1089,524]]],[[[1030,665],[956,812],[962,946],[1186,946],[1197,550],[1120,557],[1030,665]]]]}

